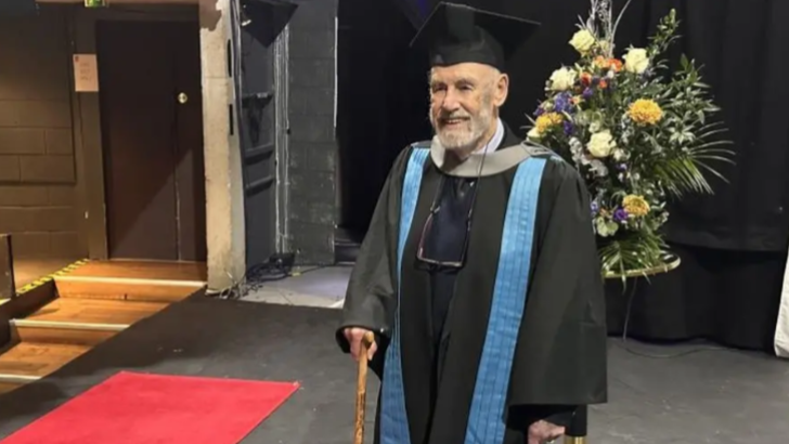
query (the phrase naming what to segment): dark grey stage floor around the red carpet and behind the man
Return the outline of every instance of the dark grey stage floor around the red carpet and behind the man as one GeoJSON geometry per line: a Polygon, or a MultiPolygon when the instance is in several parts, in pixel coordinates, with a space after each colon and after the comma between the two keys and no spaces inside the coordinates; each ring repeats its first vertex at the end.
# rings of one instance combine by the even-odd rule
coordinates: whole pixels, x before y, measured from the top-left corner
{"type": "MultiPolygon", "coordinates": [[[[329,309],[195,296],[54,375],[0,397],[0,438],[116,371],[130,369],[298,380],[302,388],[243,443],[349,444],[355,374],[353,363],[334,344],[337,316],[329,309]]],[[[611,340],[610,403],[591,412],[590,443],[786,442],[789,363],[736,351],[658,360],[629,353],[619,342],[611,340]]],[[[651,353],[680,351],[631,347],[651,353]]],[[[372,408],[375,396],[370,397],[372,408]]]]}

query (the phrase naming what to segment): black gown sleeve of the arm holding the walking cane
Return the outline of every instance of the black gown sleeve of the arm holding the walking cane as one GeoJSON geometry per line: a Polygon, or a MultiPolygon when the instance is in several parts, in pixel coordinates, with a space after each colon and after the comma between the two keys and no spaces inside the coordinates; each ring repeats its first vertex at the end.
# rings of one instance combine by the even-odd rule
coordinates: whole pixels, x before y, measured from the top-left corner
{"type": "Polygon", "coordinates": [[[391,331],[397,305],[400,195],[411,151],[404,149],[396,159],[359,249],[346,291],[340,325],[335,334],[337,343],[345,353],[350,351],[350,344],[342,335],[342,330],[348,327],[365,328],[376,336],[388,336],[391,331]]]}

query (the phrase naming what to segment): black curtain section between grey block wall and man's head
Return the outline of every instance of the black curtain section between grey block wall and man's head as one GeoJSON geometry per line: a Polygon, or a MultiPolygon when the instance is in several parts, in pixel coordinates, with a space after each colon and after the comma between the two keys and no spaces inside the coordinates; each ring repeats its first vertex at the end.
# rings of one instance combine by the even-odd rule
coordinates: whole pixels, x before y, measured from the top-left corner
{"type": "MultiPolygon", "coordinates": [[[[399,1],[399,0],[398,0],[399,1]]],[[[430,136],[427,56],[394,0],[339,0],[337,140],[339,226],[364,233],[394,158],[430,136]]]]}

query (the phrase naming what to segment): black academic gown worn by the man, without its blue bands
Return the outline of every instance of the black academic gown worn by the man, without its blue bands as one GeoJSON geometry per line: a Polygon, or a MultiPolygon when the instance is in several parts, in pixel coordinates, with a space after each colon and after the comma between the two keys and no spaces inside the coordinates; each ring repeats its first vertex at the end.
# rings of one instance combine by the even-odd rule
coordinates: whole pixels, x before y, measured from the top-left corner
{"type": "MultiPolygon", "coordinates": [[[[506,129],[502,146],[519,142],[506,129]]],[[[375,331],[379,348],[371,368],[379,377],[397,304],[400,196],[411,151],[398,157],[380,194],[336,336],[348,352],[342,329],[375,331]]],[[[443,174],[426,161],[402,263],[401,322],[408,326],[401,334],[402,368],[412,444],[464,441],[516,169],[482,177],[475,185],[479,190],[466,263],[449,278],[454,291],[447,297],[442,288],[448,277],[416,259],[443,174]]],[[[468,180],[449,179],[449,186],[468,180]]],[[[448,193],[439,195],[445,198],[448,193]]],[[[567,426],[577,406],[607,400],[605,302],[590,201],[581,178],[564,161],[546,162],[534,232],[529,295],[505,408],[505,444],[525,444],[529,426],[539,419],[567,426]]],[[[377,427],[375,434],[377,443],[377,427]]]]}

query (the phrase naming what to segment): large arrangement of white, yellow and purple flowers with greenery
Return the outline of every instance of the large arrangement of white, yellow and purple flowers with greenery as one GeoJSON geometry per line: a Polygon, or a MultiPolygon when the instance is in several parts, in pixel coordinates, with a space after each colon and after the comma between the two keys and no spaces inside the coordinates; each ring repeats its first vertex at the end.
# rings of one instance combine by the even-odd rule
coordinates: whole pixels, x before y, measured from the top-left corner
{"type": "Polygon", "coordinates": [[[684,193],[712,193],[702,171],[709,162],[730,161],[724,131],[710,116],[719,108],[708,97],[699,70],[683,56],[671,73],[661,60],[677,38],[675,11],[663,17],[647,48],[615,55],[610,0],[592,0],[570,44],[580,54],[572,66],[546,82],[528,140],[573,162],[590,190],[603,272],[624,276],[661,266],[669,254],[661,227],[667,200],[684,193]]]}

